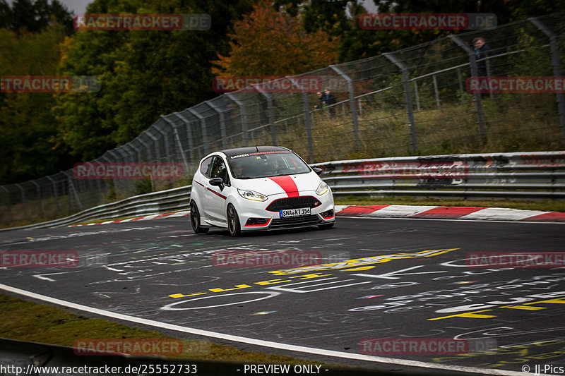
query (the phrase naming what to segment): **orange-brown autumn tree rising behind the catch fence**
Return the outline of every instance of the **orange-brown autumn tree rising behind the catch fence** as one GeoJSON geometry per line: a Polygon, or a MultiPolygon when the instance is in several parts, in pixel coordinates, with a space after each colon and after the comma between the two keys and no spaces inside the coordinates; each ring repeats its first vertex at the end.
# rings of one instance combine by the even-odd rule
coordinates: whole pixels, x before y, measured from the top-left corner
{"type": "Polygon", "coordinates": [[[299,19],[276,11],[270,1],[256,4],[228,36],[232,52],[212,61],[215,75],[297,75],[338,61],[338,38],[306,32],[299,19]]]}

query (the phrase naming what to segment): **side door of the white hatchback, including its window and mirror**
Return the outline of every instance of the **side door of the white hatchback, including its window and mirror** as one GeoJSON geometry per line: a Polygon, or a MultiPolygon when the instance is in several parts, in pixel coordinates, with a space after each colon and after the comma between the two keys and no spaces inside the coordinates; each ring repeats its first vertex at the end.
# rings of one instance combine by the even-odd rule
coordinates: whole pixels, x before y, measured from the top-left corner
{"type": "Polygon", "coordinates": [[[230,176],[227,174],[227,166],[222,159],[216,155],[212,161],[209,178],[222,178],[224,187],[212,186],[210,181],[206,182],[206,217],[214,221],[227,224],[225,215],[225,200],[227,190],[230,188],[230,176]]]}

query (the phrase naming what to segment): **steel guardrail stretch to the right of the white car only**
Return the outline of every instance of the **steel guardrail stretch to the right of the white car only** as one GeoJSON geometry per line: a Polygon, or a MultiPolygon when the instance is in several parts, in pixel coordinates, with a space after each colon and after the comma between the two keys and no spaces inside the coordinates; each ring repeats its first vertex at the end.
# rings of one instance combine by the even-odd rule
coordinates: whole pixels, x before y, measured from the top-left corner
{"type": "Polygon", "coordinates": [[[337,196],[565,198],[565,152],[357,159],[316,166],[337,196]]]}

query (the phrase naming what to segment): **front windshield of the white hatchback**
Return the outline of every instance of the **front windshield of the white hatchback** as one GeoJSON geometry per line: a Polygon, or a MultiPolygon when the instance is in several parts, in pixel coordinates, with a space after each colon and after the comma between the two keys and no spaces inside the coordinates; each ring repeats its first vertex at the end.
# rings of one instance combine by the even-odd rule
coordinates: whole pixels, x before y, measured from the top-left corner
{"type": "Polygon", "coordinates": [[[297,154],[287,151],[254,152],[228,157],[234,178],[266,178],[291,174],[307,174],[310,167],[297,154]]]}

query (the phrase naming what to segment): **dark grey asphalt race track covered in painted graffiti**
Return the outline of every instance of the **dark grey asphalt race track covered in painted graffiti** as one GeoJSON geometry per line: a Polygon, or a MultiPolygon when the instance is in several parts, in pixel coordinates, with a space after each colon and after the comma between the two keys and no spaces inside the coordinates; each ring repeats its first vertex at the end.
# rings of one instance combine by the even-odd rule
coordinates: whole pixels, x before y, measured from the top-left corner
{"type": "Polygon", "coordinates": [[[333,364],[525,375],[526,366],[565,368],[565,269],[468,264],[481,253],[563,253],[564,230],[341,217],[329,230],[230,238],[196,235],[183,217],[8,231],[4,252],[79,262],[6,267],[0,289],[179,338],[333,364]],[[439,339],[464,348],[427,347],[439,339]],[[404,347],[385,346],[393,340],[404,347]]]}

